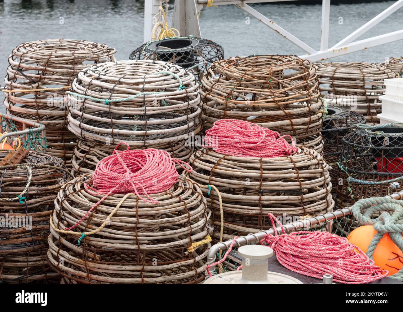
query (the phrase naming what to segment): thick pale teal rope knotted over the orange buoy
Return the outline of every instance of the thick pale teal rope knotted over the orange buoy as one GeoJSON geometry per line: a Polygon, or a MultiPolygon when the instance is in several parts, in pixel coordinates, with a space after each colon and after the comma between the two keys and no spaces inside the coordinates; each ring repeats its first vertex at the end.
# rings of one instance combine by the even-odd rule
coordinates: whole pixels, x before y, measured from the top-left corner
{"type": "MultiPolygon", "coordinates": [[[[388,197],[360,199],[351,207],[351,211],[361,225],[372,225],[377,232],[368,246],[368,257],[372,259],[376,246],[386,233],[403,252],[403,200],[388,197]],[[376,214],[379,217],[372,218],[376,214]]],[[[403,268],[390,277],[403,282],[403,268]]]]}

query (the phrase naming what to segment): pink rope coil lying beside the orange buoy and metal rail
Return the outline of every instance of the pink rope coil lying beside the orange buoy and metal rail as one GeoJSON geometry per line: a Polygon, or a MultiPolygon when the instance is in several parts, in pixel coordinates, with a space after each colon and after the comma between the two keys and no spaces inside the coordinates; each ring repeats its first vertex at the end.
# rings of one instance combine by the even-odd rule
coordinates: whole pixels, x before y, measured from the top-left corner
{"type": "Polygon", "coordinates": [[[273,227],[276,221],[283,234],[266,234],[260,244],[268,244],[278,262],[291,271],[320,279],[332,274],[334,281],[344,284],[370,283],[388,274],[347,238],[321,231],[286,234],[280,221],[272,213],[268,215],[273,227]]]}

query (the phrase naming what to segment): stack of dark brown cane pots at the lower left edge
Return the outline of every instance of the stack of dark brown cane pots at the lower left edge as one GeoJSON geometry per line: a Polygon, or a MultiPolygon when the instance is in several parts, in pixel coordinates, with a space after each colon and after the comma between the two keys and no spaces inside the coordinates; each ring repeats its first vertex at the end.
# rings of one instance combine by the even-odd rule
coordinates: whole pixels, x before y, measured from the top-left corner
{"type": "Polygon", "coordinates": [[[69,172],[62,159],[43,153],[10,165],[9,153],[0,151],[0,280],[58,281],[48,265],[47,236],[54,199],[69,172]]]}

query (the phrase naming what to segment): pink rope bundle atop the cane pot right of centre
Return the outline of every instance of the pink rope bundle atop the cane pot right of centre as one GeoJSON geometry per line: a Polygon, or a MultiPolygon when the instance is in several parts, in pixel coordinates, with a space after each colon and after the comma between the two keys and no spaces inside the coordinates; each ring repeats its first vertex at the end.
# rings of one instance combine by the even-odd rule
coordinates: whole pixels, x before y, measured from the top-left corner
{"type": "Polygon", "coordinates": [[[281,136],[276,131],[237,119],[214,122],[213,127],[206,131],[204,146],[212,147],[224,155],[238,157],[281,157],[297,151],[289,134],[281,136]],[[285,137],[291,140],[291,145],[285,137]]]}

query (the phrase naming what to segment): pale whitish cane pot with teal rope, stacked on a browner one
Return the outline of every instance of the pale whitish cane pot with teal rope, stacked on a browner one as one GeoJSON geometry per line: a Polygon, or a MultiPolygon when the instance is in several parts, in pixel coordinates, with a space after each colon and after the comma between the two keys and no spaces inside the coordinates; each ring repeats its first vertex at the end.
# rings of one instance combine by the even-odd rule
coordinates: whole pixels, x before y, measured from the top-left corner
{"type": "Polygon", "coordinates": [[[80,139],[73,174],[91,173],[122,141],[187,160],[189,136],[201,128],[199,84],[184,68],[152,60],[90,66],[67,92],[69,130],[80,139]]]}

